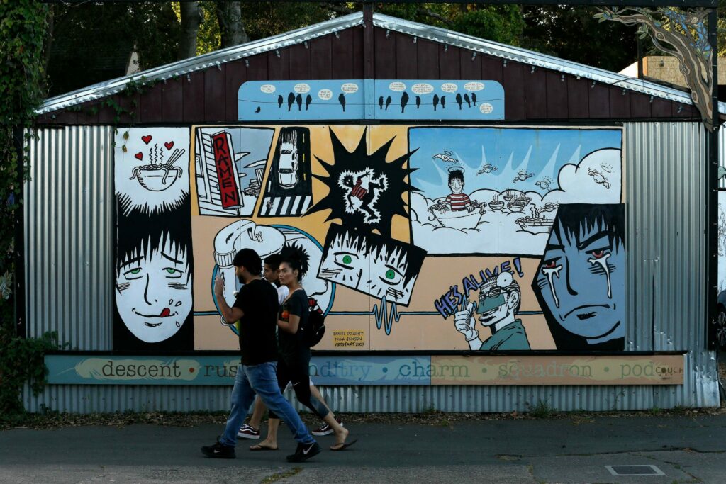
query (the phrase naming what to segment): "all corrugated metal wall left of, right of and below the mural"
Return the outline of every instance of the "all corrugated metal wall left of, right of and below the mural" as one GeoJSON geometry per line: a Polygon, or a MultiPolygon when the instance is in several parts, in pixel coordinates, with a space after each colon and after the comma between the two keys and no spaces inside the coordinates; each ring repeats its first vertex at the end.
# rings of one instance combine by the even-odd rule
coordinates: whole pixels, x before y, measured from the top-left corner
{"type": "MultiPolygon", "coordinates": [[[[81,350],[111,347],[111,134],[106,127],[43,130],[32,150],[25,213],[29,333],[57,329],[81,350]]],[[[539,401],[591,411],[718,406],[715,355],[705,349],[705,143],[700,123],[624,129],[626,349],[688,350],[684,385],[329,387],[323,394],[330,405],[344,412],[527,411],[539,401]]],[[[52,385],[38,397],[27,389],[24,396],[30,411],[195,411],[228,409],[229,390],[52,385]]]]}

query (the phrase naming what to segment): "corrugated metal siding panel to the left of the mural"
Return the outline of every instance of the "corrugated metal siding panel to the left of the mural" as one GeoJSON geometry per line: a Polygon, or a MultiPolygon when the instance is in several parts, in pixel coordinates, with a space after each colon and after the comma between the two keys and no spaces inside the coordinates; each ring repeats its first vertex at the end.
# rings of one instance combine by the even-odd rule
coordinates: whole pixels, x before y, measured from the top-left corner
{"type": "Polygon", "coordinates": [[[110,350],[113,128],[40,129],[25,183],[28,336],[110,350]]]}

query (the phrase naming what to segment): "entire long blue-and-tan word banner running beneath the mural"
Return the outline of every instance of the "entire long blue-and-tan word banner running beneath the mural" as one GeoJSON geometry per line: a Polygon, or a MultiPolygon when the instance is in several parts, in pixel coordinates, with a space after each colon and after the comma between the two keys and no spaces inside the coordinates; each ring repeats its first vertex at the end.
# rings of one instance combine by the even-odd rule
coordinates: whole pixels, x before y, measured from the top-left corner
{"type": "MultiPolygon", "coordinates": [[[[316,385],[682,385],[682,355],[314,356],[316,385]]],[[[232,385],[239,356],[48,355],[52,385],[232,385]]]]}

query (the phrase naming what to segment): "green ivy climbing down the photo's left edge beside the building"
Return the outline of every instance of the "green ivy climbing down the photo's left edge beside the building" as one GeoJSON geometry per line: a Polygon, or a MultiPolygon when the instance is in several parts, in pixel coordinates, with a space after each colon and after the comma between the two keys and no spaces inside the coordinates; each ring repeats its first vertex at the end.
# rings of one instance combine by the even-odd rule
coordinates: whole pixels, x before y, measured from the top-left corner
{"type": "Polygon", "coordinates": [[[47,7],[34,0],[0,1],[0,419],[23,411],[25,382],[34,393],[45,385],[43,355],[57,348],[57,337],[17,337],[14,299],[10,298],[14,271],[15,216],[19,208],[18,170],[27,176],[28,157],[18,153],[14,128],[33,126],[33,110],[43,99],[42,52],[47,7]]]}

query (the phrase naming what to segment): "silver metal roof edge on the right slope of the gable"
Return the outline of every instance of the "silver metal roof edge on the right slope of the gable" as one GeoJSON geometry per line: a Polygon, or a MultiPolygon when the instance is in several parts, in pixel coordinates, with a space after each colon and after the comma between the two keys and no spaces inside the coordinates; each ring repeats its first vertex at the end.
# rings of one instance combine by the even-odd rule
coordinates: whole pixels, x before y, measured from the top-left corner
{"type": "MultiPolygon", "coordinates": [[[[571,62],[569,60],[560,59],[547,54],[539,54],[520,47],[499,44],[499,42],[488,41],[483,38],[468,36],[463,33],[454,32],[441,27],[433,27],[432,25],[424,25],[410,20],[403,20],[397,17],[390,17],[379,13],[373,14],[373,25],[380,28],[386,28],[399,33],[406,33],[411,36],[426,38],[442,44],[461,47],[463,49],[481,52],[482,54],[500,57],[505,60],[522,62],[533,67],[542,67],[544,69],[557,70],[558,72],[576,75],[581,78],[587,78],[591,81],[600,82],[609,86],[618,86],[630,91],[649,94],[653,97],[661,97],[670,101],[682,102],[683,104],[693,104],[690,99],[690,93],[672,89],[661,84],[642,79],[630,78],[626,75],[613,73],[610,70],[590,67],[588,65],[571,62]]],[[[719,102],[719,112],[726,112],[726,102],[719,102]]]]}

